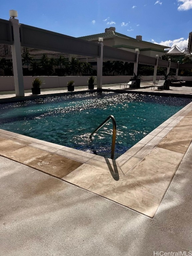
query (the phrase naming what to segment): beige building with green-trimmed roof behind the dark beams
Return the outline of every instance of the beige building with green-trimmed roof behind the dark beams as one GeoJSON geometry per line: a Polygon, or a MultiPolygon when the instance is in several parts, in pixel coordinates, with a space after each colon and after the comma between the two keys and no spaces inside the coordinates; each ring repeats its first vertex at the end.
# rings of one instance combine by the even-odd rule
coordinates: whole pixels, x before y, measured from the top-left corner
{"type": "Polygon", "coordinates": [[[138,48],[140,50],[140,54],[150,57],[156,57],[156,54],[161,57],[166,53],[164,49],[170,48],[169,46],[143,41],[142,36],[136,36],[136,38],[133,38],[117,33],[115,31],[115,27],[106,28],[105,33],[83,36],[79,37],[79,39],[98,42],[99,37],[103,37],[104,45],[130,52],[135,52],[135,49],[138,48]]]}

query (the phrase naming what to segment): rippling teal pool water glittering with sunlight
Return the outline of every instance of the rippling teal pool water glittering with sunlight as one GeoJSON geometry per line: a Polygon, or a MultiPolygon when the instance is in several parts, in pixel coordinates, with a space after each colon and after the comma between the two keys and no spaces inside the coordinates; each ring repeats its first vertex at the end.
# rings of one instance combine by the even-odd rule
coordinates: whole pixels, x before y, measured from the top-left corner
{"type": "Polygon", "coordinates": [[[115,159],[181,108],[189,98],[113,92],[63,95],[0,104],[0,129],[110,158],[115,117],[115,159]]]}

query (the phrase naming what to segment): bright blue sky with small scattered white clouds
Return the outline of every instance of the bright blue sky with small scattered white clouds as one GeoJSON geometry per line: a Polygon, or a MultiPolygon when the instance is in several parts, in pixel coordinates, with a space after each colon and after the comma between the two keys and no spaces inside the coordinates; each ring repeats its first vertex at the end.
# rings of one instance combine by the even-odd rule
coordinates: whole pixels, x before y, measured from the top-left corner
{"type": "Polygon", "coordinates": [[[116,32],[166,46],[187,47],[192,0],[1,0],[0,18],[18,11],[20,23],[69,36],[116,32]]]}

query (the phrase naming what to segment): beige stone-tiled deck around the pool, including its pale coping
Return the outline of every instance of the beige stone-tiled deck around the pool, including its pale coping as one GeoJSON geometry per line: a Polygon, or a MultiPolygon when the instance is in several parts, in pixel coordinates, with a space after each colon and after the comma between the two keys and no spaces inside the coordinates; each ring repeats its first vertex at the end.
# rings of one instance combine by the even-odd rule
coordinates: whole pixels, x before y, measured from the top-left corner
{"type": "MultiPolygon", "coordinates": [[[[131,91],[151,92],[151,83],[142,85],[131,91]]],[[[108,88],[119,90],[119,85],[106,85],[108,88]]],[[[152,92],[191,94],[191,87],[171,89],[152,92]]],[[[79,90],[87,89],[75,91],[79,90]]],[[[42,94],[64,92],[66,89],[42,94]]],[[[29,98],[30,94],[26,93],[29,98]]],[[[2,94],[0,100],[13,97],[2,94]]],[[[153,217],[192,141],[191,123],[192,103],[116,160],[0,130],[0,155],[153,217]]]]}

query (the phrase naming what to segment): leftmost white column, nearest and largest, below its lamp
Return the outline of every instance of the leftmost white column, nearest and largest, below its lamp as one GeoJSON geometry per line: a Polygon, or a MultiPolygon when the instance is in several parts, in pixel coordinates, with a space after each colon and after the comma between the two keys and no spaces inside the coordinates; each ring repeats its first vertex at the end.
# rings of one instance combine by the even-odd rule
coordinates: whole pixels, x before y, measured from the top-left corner
{"type": "Polygon", "coordinates": [[[23,83],[23,69],[21,59],[21,44],[19,33],[19,20],[10,18],[13,27],[13,45],[11,45],[12,60],[13,60],[13,75],[15,83],[16,96],[25,96],[24,83],[23,83]]]}

